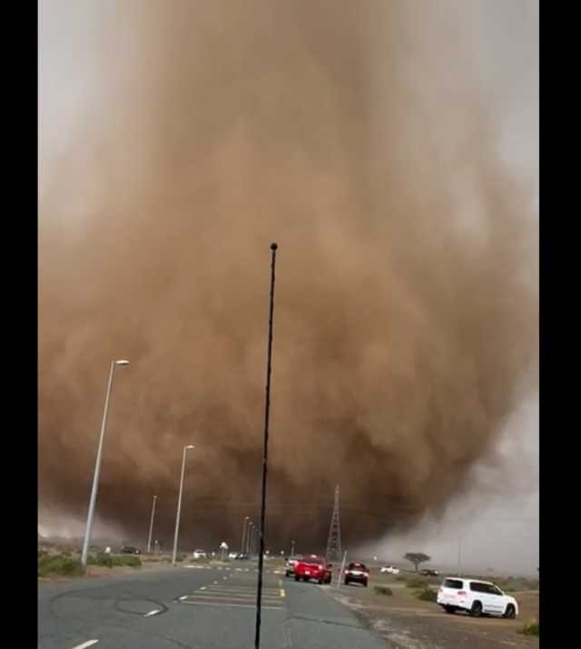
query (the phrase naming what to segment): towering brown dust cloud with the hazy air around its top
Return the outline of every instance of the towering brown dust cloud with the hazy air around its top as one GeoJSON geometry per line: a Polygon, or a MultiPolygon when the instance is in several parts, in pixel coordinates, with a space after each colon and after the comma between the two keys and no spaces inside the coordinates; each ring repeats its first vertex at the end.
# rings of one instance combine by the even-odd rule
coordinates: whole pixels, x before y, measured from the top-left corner
{"type": "Polygon", "coordinates": [[[458,6],[41,3],[41,510],[84,518],[127,357],[101,520],[157,494],[169,538],[196,444],[183,544],[238,538],[272,240],[269,543],[324,544],[338,482],[346,543],[467,488],[535,388],[537,223],[458,6]]]}

